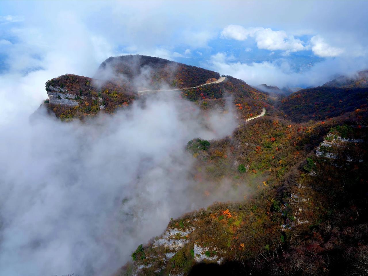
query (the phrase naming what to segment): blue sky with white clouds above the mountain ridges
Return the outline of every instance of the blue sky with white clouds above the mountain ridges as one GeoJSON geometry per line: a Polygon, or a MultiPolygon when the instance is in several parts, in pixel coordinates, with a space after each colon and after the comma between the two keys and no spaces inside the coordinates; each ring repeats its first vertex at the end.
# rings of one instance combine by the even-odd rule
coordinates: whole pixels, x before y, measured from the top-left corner
{"type": "Polygon", "coordinates": [[[321,85],[368,67],[367,1],[1,1],[0,98],[32,110],[45,82],[146,54],[251,85],[321,85]],[[5,91],[17,91],[8,95],[5,91]]]}

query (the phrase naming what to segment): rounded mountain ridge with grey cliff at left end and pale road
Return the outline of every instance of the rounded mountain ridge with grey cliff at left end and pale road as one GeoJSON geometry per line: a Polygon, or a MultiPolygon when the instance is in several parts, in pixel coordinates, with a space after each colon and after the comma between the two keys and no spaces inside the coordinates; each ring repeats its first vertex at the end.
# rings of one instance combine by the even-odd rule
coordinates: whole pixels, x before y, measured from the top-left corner
{"type": "Polygon", "coordinates": [[[237,112],[245,119],[261,113],[265,105],[272,103],[263,92],[231,76],[206,84],[214,78],[220,79],[220,75],[156,57],[110,57],[100,65],[93,78],[66,74],[47,81],[49,99],[45,105],[49,112],[63,120],[82,119],[95,116],[101,110],[113,113],[127,108],[142,97],[137,92],[144,86],[163,90],[189,87],[181,91],[181,97],[196,102],[203,110],[217,104],[224,106],[221,99],[228,93],[239,104],[237,112]]]}

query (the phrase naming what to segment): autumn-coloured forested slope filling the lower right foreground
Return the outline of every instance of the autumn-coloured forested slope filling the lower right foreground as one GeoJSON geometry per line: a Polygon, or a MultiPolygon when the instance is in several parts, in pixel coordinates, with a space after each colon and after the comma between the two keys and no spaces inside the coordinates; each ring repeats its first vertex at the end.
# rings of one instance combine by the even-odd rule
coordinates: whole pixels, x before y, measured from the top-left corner
{"type": "Polygon", "coordinates": [[[174,236],[140,246],[134,267],[125,266],[121,275],[363,273],[368,128],[354,124],[358,116],[297,124],[265,117],[223,140],[190,141],[198,192],[209,196],[224,179],[231,180],[229,190],[254,192],[171,220],[167,231],[174,236]],[[360,142],[340,148],[336,159],[315,155],[330,134],[360,142]],[[221,265],[196,265],[202,261],[221,265]]]}

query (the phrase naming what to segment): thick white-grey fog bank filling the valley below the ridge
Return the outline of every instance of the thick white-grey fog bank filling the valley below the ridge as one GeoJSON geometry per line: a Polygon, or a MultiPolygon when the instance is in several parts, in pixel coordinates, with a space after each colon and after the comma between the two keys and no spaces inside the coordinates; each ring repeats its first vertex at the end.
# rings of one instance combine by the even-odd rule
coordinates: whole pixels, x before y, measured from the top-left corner
{"type": "Polygon", "coordinates": [[[110,275],[198,195],[185,145],[231,134],[234,116],[178,94],[63,123],[41,108],[0,131],[0,275],[110,275]]]}

